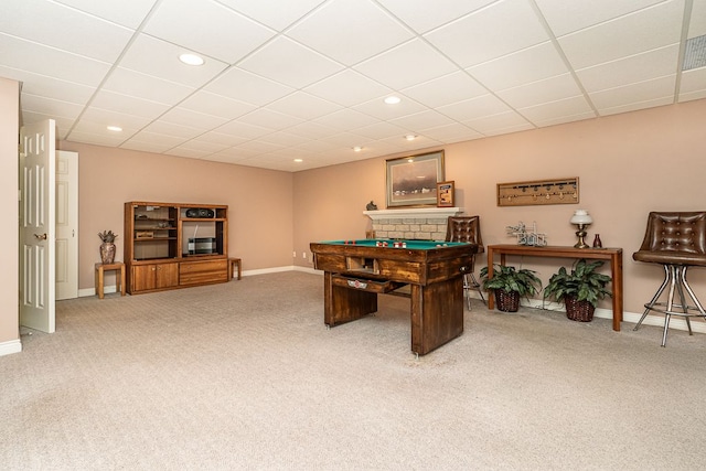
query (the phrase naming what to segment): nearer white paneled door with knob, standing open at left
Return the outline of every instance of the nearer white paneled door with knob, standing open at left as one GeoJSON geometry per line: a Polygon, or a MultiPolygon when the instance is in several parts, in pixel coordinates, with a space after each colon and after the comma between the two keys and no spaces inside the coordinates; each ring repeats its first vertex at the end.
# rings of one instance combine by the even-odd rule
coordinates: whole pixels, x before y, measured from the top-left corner
{"type": "Polygon", "coordinates": [[[55,329],[54,120],[20,130],[20,324],[55,329]]]}

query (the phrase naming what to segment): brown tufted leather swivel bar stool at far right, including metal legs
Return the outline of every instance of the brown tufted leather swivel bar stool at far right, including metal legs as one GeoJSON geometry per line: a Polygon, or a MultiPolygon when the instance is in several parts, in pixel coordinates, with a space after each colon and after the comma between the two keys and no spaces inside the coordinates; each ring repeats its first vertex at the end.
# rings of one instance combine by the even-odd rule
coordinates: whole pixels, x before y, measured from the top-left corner
{"type": "Polygon", "coordinates": [[[640,328],[650,312],[657,312],[665,317],[662,346],[666,345],[672,315],[684,317],[688,333],[693,335],[689,318],[702,315],[706,319],[706,312],[686,281],[686,270],[706,267],[706,212],[650,213],[642,246],[632,258],[664,268],[664,281],[652,300],[644,304],[644,313],[633,330],[640,328]],[[660,301],[665,290],[666,300],[660,301]]]}

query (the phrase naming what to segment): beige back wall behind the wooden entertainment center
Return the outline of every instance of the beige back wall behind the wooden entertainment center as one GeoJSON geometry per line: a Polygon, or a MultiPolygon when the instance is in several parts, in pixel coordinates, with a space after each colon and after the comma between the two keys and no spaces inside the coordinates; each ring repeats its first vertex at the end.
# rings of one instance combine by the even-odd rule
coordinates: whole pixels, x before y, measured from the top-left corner
{"type": "Polygon", "coordinates": [[[98,232],[118,234],[122,260],[127,201],[227,204],[228,253],[244,269],[291,266],[291,173],[74,142],[60,149],[78,152],[79,289],[94,287],[98,232]]]}

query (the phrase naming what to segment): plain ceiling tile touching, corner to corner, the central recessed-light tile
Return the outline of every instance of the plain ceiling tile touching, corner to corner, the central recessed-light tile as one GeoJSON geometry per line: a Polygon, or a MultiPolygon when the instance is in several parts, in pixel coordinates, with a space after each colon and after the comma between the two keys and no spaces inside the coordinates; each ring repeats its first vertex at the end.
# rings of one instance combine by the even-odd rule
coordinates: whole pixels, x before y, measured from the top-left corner
{"type": "Polygon", "coordinates": [[[415,39],[354,67],[394,89],[440,77],[458,67],[426,42],[415,39]],[[420,67],[419,64],[425,64],[420,67]]]}

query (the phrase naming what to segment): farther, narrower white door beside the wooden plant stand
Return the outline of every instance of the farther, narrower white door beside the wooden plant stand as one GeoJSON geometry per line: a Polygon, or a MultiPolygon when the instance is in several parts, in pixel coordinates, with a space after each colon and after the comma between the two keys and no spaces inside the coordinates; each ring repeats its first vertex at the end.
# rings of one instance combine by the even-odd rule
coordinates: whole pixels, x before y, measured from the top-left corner
{"type": "Polygon", "coordinates": [[[56,300],[78,298],[78,153],[56,151],[56,300]]]}

